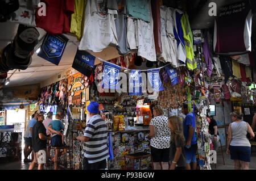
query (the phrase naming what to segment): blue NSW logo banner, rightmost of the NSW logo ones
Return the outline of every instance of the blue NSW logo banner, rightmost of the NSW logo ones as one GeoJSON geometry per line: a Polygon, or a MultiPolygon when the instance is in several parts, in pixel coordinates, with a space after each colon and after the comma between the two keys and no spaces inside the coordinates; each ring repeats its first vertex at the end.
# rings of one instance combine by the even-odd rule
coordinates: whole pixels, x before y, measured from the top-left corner
{"type": "Polygon", "coordinates": [[[150,85],[154,91],[158,92],[158,91],[164,90],[162,81],[160,79],[159,69],[148,70],[147,77],[148,77],[148,81],[150,81],[150,85]]]}

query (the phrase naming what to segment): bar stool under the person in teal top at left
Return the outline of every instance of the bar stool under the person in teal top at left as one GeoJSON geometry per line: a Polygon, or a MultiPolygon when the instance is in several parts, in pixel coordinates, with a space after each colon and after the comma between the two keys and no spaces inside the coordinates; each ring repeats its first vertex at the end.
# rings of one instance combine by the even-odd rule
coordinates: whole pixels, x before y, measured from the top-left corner
{"type": "Polygon", "coordinates": [[[67,154],[69,154],[69,164],[70,164],[70,169],[72,168],[72,161],[71,161],[71,155],[70,155],[70,151],[69,151],[69,146],[59,146],[59,147],[56,147],[56,146],[50,146],[50,151],[49,151],[49,161],[50,161],[50,168],[52,169],[52,159],[54,158],[54,155],[52,154],[52,150],[54,150],[54,154],[55,154],[55,150],[59,150],[59,153],[61,153],[61,150],[67,150],[67,153],[64,153],[63,155],[60,155],[59,158],[58,158],[58,163],[60,163],[60,157],[61,156],[64,156],[64,168],[68,167],[67,165],[67,154]]]}

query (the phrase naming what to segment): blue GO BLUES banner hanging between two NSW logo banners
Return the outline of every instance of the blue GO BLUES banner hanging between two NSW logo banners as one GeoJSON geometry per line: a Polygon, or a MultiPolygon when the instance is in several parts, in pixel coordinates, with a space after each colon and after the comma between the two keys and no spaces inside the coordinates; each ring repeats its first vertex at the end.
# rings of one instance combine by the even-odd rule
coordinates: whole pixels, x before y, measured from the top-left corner
{"type": "Polygon", "coordinates": [[[141,71],[131,70],[129,75],[129,95],[142,95],[141,71]]]}

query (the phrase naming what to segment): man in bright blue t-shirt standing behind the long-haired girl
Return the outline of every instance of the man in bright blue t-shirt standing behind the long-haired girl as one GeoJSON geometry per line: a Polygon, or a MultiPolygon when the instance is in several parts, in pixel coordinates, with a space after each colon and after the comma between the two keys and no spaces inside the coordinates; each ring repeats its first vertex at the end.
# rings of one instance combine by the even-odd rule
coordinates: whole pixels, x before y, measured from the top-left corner
{"type": "Polygon", "coordinates": [[[184,103],[182,112],[186,115],[183,121],[183,131],[185,137],[185,155],[187,159],[187,170],[196,170],[196,151],[197,151],[197,138],[196,138],[196,119],[193,113],[188,112],[188,104],[184,103]]]}

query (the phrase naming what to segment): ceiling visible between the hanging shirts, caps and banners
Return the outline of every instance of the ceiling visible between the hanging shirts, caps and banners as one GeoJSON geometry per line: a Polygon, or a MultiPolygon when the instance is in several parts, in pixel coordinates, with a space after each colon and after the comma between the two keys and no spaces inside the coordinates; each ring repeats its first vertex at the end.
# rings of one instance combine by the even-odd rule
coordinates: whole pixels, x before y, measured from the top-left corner
{"type": "MultiPolygon", "coordinates": [[[[171,0],[168,2],[172,2],[174,0],[171,0]]],[[[184,0],[183,0],[184,1],[184,0]]],[[[217,5],[217,9],[219,9],[221,6],[237,2],[240,0],[186,0],[188,7],[188,12],[191,18],[191,28],[192,29],[204,29],[204,28],[212,28],[214,23],[214,16],[209,16],[209,3],[215,2],[217,5]]],[[[253,30],[256,30],[256,22],[255,19],[253,19],[253,30]]],[[[0,23],[0,49],[3,49],[7,44],[11,43],[11,41],[14,39],[14,36],[16,34],[16,31],[18,29],[18,24],[16,23],[0,23]]],[[[39,40],[43,38],[44,35],[46,35],[46,32],[42,30],[41,28],[37,28],[40,37],[39,40]]],[[[253,33],[254,34],[254,33],[253,33]]],[[[43,58],[40,58],[35,53],[32,56],[32,63],[26,70],[12,70],[9,71],[8,77],[10,78],[10,83],[8,87],[13,86],[22,86],[22,85],[31,85],[34,83],[40,83],[48,78],[51,78],[53,75],[56,75],[60,73],[61,71],[70,68],[72,66],[76,50],[77,50],[77,39],[75,36],[72,35],[65,35],[68,37],[69,42],[67,44],[67,47],[64,51],[63,57],[60,61],[60,64],[58,66],[52,64],[51,62],[48,62],[44,60],[43,58]]],[[[90,52],[90,51],[89,51],[90,52]]],[[[100,57],[104,60],[110,60],[112,58],[118,57],[118,52],[113,47],[108,47],[104,51],[100,53],[93,53],[90,52],[97,57],[100,57]]],[[[100,60],[96,60],[96,64],[98,64],[100,60]]]]}

